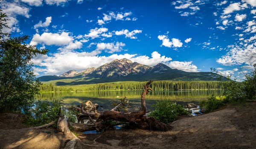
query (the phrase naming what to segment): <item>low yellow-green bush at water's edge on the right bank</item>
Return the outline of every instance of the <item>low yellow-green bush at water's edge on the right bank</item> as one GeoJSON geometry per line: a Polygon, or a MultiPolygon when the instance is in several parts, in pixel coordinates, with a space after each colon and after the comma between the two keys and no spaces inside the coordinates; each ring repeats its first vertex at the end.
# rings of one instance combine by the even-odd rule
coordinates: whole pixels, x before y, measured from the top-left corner
{"type": "Polygon", "coordinates": [[[211,96],[208,98],[208,100],[203,100],[199,103],[199,106],[204,107],[206,109],[206,112],[212,112],[225,105],[226,105],[225,96],[219,96],[219,97],[211,96]]]}

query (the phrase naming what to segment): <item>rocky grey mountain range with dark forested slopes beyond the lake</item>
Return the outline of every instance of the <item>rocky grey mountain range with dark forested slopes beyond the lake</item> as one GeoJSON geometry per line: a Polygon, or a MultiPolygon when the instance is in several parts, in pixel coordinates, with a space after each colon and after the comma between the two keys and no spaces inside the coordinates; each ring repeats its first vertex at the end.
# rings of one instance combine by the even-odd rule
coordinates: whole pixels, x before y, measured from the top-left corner
{"type": "Polygon", "coordinates": [[[115,81],[146,81],[146,80],[204,80],[214,81],[220,75],[212,72],[185,72],[171,69],[163,63],[156,66],[146,66],[132,62],[126,58],[113,60],[98,68],[87,68],[77,72],[70,70],[61,75],[38,77],[41,82],[55,85],[78,85],[90,83],[105,83],[115,81]]]}

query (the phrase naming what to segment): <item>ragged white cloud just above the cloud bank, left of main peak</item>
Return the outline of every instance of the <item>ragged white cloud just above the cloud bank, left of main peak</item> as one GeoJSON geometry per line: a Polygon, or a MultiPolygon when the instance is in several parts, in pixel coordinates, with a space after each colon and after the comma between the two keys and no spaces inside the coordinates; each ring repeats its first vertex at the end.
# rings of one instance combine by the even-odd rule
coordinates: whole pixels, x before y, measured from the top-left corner
{"type": "Polygon", "coordinates": [[[120,52],[122,47],[125,46],[122,42],[115,43],[98,43],[96,50],[105,50],[107,53],[120,52]]]}

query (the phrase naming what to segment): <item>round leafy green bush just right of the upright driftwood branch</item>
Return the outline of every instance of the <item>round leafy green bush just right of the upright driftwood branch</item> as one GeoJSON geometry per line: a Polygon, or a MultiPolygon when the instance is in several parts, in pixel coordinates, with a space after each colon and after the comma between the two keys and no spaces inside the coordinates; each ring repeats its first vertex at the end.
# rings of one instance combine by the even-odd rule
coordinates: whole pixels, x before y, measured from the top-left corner
{"type": "Polygon", "coordinates": [[[152,116],[163,123],[173,122],[177,120],[179,115],[190,115],[186,108],[172,102],[171,100],[157,101],[157,103],[152,105],[152,107],[155,109],[149,114],[149,116],[152,116]]]}

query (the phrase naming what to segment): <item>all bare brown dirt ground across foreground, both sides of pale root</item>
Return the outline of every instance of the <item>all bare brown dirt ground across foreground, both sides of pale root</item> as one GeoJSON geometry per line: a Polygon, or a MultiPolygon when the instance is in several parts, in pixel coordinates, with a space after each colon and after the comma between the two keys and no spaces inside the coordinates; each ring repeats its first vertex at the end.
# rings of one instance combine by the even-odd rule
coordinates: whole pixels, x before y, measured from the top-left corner
{"type": "MultiPolygon", "coordinates": [[[[13,114],[10,119],[10,115],[0,115],[0,149],[58,149],[65,145],[67,139],[61,132],[54,133],[52,128],[28,129],[16,116],[13,114]]],[[[181,117],[171,126],[174,128],[167,132],[140,129],[109,130],[95,135],[79,132],[75,148],[256,149],[256,103],[227,106],[196,117],[181,117]]]]}

